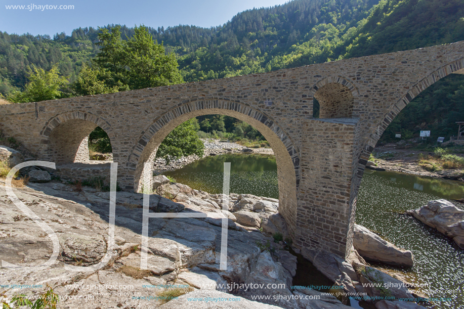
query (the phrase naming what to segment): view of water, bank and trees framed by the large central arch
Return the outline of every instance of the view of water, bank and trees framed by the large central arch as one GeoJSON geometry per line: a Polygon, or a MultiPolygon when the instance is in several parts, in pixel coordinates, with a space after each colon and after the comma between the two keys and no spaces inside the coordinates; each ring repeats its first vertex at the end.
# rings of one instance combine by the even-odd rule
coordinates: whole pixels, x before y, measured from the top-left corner
{"type": "MultiPolygon", "coordinates": [[[[156,157],[155,175],[166,175],[193,189],[222,193],[224,162],[229,162],[231,193],[279,198],[276,159],[269,143],[256,128],[237,118],[191,118],[167,135],[156,157]]],[[[161,192],[158,188],[157,193],[161,192]]]]}

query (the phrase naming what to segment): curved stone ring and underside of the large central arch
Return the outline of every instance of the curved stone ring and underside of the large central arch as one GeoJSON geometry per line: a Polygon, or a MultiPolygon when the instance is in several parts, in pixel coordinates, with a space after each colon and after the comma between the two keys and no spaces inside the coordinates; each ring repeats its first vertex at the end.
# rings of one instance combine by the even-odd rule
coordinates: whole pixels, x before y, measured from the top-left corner
{"type": "Polygon", "coordinates": [[[130,167],[135,169],[134,189],[140,189],[143,165],[167,134],[182,122],[207,114],[223,114],[245,121],[258,129],[269,142],[277,161],[279,212],[285,217],[291,229],[300,183],[299,150],[274,119],[244,103],[217,99],[194,100],[180,104],[156,118],[141,134],[129,158],[130,167]]]}

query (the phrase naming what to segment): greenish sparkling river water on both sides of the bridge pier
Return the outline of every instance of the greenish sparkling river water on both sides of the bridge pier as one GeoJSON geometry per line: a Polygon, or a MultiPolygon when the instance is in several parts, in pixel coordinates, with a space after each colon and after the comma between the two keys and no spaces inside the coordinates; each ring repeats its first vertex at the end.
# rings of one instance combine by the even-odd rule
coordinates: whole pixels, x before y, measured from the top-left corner
{"type": "MultiPolygon", "coordinates": [[[[197,190],[222,193],[224,162],[231,162],[230,192],[278,198],[277,165],[270,155],[206,157],[164,174],[197,190]]],[[[437,298],[434,303],[440,309],[464,308],[464,250],[450,238],[402,213],[430,200],[463,197],[464,185],[457,182],[367,169],[359,190],[356,223],[412,251],[412,268],[389,269],[402,272],[417,285],[430,284],[419,291],[437,298]]]]}

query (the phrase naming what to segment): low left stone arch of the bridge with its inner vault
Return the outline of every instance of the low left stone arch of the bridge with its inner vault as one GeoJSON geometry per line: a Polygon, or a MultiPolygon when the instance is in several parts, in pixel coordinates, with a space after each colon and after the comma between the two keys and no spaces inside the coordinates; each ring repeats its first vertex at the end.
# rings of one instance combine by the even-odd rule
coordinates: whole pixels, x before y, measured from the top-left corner
{"type": "Polygon", "coordinates": [[[45,157],[57,164],[88,161],[87,137],[97,126],[106,131],[110,142],[114,141],[110,124],[90,112],[70,111],[52,117],[40,131],[45,157]]]}

